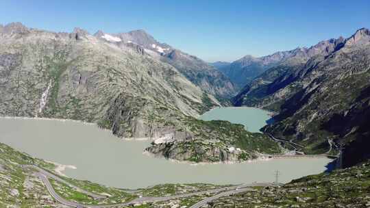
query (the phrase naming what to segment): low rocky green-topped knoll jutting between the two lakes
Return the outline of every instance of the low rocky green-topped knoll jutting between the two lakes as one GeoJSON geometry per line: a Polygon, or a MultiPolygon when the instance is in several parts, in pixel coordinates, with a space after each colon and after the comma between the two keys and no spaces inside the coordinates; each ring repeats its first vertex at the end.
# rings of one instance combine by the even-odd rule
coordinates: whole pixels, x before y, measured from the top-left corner
{"type": "Polygon", "coordinates": [[[260,153],[281,151],[266,135],[245,131],[243,125],[193,119],[188,121],[188,127],[191,135],[183,132],[182,140],[155,140],[147,151],[160,157],[195,162],[245,161],[259,157],[260,153]]]}

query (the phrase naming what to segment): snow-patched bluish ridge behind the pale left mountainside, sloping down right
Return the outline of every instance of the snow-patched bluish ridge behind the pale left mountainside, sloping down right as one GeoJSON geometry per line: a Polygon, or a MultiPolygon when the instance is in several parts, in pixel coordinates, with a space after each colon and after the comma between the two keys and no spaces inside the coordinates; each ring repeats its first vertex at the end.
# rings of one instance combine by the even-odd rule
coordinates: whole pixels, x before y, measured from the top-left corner
{"type": "Polygon", "coordinates": [[[116,44],[127,44],[140,54],[147,53],[157,60],[171,64],[196,86],[214,95],[220,101],[230,99],[236,94],[234,84],[216,68],[193,55],[158,42],[143,29],[121,34],[104,34],[103,31],[98,31],[95,37],[116,44]]]}

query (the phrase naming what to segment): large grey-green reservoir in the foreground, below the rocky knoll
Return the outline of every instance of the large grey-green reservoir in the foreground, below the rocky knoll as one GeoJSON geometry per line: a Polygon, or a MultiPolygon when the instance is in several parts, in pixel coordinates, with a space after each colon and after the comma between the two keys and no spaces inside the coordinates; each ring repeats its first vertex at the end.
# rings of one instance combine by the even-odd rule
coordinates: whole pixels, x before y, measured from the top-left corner
{"type": "MultiPolygon", "coordinates": [[[[246,112],[249,113],[252,114],[246,112]]],[[[123,188],[160,183],[272,182],[275,170],[281,172],[280,182],[288,182],[322,172],[330,162],[330,159],[271,159],[246,164],[177,163],[143,155],[149,141],[119,140],[95,125],[58,120],[0,118],[0,142],[34,157],[75,166],[77,169],[64,171],[69,177],[123,188]]]]}

